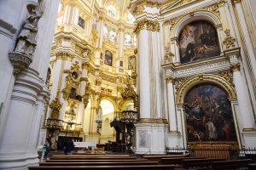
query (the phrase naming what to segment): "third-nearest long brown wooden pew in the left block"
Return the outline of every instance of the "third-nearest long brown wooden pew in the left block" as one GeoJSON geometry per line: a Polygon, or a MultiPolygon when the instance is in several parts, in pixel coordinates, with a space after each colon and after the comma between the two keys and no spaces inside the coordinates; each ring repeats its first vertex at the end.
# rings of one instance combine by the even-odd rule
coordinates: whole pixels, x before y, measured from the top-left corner
{"type": "Polygon", "coordinates": [[[108,161],[108,162],[129,162],[129,161],[148,161],[146,159],[119,159],[119,160],[46,160],[45,162],[99,162],[99,161],[108,161]]]}

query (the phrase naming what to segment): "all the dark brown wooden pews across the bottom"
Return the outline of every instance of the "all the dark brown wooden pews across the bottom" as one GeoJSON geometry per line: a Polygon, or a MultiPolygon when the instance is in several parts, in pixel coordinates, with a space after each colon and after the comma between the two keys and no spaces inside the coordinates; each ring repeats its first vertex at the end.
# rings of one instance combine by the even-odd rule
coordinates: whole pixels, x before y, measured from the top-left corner
{"type": "Polygon", "coordinates": [[[142,170],[256,170],[251,160],[226,161],[218,158],[189,157],[185,155],[143,156],[129,155],[86,155],[86,156],[51,156],[49,160],[39,163],[38,167],[28,167],[29,170],[108,170],[108,169],[142,169],[142,170]]]}

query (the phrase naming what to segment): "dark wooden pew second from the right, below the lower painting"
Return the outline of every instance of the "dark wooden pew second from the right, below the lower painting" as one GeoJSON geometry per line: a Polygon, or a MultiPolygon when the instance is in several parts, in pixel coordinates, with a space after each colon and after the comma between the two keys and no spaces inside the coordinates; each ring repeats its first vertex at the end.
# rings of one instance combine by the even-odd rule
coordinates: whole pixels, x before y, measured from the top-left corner
{"type": "MultiPolygon", "coordinates": [[[[207,159],[183,159],[183,169],[211,169],[212,161],[224,161],[224,159],[207,158],[207,159]]],[[[218,169],[220,170],[220,169],[218,169]]]]}

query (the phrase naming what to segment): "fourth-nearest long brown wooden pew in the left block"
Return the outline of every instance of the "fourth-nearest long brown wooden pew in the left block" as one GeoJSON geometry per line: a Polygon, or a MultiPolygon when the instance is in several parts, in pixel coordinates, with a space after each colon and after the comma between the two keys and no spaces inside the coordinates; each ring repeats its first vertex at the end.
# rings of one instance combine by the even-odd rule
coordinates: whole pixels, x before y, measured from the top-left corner
{"type": "MultiPolygon", "coordinates": [[[[59,156],[59,157],[49,157],[49,160],[120,160],[124,159],[124,157],[81,157],[81,156],[73,156],[73,157],[67,157],[67,156],[59,156]]],[[[136,159],[136,157],[125,157],[125,159],[136,159]]]]}

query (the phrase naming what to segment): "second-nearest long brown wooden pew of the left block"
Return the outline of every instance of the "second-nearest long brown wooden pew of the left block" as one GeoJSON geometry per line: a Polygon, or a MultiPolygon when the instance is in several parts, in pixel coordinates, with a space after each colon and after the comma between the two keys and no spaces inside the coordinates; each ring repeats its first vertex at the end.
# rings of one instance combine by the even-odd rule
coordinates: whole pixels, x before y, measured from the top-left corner
{"type": "Polygon", "coordinates": [[[42,162],[39,166],[123,166],[123,165],[157,165],[158,161],[99,161],[99,162],[42,162]]]}

